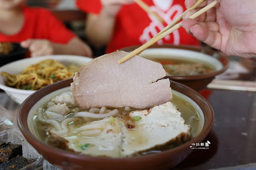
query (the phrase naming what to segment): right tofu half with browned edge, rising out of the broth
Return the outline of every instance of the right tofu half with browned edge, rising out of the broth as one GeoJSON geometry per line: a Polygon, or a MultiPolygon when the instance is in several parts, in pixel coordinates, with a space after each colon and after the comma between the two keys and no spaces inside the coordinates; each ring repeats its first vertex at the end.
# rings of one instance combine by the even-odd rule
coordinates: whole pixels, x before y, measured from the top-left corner
{"type": "Polygon", "coordinates": [[[122,128],[123,157],[161,149],[167,144],[182,144],[191,138],[190,125],[185,124],[181,113],[171,102],[150,110],[133,111],[129,113],[128,120],[129,125],[122,128]],[[134,122],[135,117],[139,117],[140,121],[134,122]]]}

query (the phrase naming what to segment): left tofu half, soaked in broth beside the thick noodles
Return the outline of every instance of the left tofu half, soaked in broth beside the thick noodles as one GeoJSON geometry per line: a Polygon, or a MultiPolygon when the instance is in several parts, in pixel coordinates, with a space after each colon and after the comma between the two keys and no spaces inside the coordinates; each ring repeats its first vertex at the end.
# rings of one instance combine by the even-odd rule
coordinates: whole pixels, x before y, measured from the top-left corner
{"type": "MultiPolygon", "coordinates": [[[[100,134],[96,136],[91,136],[87,134],[83,136],[82,134],[64,137],[69,141],[69,147],[76,152],[81,152],[83,154],[89,154],[91,156],[110,156],[110,157],[120,157],[121,156],[121,126],[123,123],[121,119],[111,120],[109,118],[94,121],[89,125],[103,125],[104,129],[101,130],[100,134]],[[81,149],[81,146],[85,144],[90,144],[87,148],[81,149]]],[[[97,129],[96,129],[97,130],[97,129]]],[[[90,129],[86,130],[90,132],[90,129]]],[[[78,132],[79,133],[79,132],[78,132]]]]}

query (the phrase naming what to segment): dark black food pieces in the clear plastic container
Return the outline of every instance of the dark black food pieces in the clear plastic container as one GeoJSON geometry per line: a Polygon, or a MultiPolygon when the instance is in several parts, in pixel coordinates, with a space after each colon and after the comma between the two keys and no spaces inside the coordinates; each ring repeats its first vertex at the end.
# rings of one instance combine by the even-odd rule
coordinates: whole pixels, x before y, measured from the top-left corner
{"type": "Polygon", "coordinates": [[[22,145],[11,142],[0,142],[0,170],[18,170],[30,164],[22,156],[22,145]]]}

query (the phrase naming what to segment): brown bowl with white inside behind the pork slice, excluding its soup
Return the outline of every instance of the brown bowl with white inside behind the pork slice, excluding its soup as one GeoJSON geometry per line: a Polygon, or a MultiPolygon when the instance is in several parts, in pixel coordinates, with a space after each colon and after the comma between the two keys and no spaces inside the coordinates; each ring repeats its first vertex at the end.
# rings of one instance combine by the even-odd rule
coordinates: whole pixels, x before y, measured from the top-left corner
{"type": "MultiPolygon", "coordinates": [[[[126,47],[120,50],[130,52],[138,47],[126,47]]],[[[171,61],[171,59],[196,61],[214,68],[215,71],[201,75],[167,75],[165,77],[187,85],[198,92],[204,89],[216,75],[223,73],[229,67],[228,57],[224,53],[209,47],[151,45],[139,56],[147,59],[161,58],[166,59],[166,61],[171,61]]]]}

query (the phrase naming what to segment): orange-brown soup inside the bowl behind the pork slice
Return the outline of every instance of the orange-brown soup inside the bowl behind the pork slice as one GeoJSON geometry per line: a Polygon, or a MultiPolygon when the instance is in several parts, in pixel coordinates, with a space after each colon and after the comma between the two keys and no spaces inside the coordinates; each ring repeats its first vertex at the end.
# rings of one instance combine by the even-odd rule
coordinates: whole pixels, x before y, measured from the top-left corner
{"type": "MultiPolygon", "coordinates": [[[[150,57],[150,56],[149,56],[150,57]]],[[[160,56],[161,57],[161,56],[160,56]]],[[[153,58],[152,61],[161,63],[166,71],[166,75],[200,75],[216,71],[214,67],[199,60],[188,59],[166,59],[166,58],[153,58]]]]}

